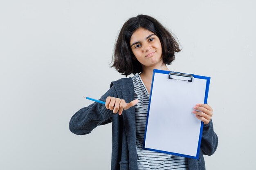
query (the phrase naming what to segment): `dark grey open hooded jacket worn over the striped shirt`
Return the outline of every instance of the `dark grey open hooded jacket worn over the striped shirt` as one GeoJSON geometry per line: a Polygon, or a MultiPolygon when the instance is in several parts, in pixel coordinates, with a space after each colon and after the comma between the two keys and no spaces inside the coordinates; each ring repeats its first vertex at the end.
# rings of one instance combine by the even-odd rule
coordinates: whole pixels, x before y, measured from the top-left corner
{"type": "MultiPolygon", "coordinates": [[[[126,103],[134,100],[132,78],[122,78],[112,82],[110,89],[101,97],[124,99],[126,103]]],[[[104,104],[97,102],[80,109],[70,120],[70,131],[85,135],[99,125],[112,122],[111,170],[137,170],[135,107],[124,110],[122,115],[114,114],[104,104]]],[[[218,137],[213,131],[213,123],[204,125],[199,159],[189,159],[189,170],[205,170],[204,155],[212,155],[218,146],[218,137]]]]}

